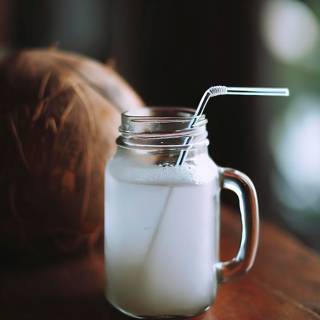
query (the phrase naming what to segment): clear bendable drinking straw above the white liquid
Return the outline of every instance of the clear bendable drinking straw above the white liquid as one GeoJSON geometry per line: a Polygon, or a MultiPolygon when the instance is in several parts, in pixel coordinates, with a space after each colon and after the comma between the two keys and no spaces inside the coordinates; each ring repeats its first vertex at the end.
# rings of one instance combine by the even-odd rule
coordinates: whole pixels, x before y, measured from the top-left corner
{"type": "MultiPolygon", "coordinates": [[[[242,96],[284,96],[290,95],[288,88],[250,88],[250,87],[226,87],[224,85],[217,85],[210,87],[202,96],[199,105],[194,113],[194,117],[201,116],[205,105],[207,105],[211,97],[220,95],[242,95],[242,96]]],[[[194,126],[197,119],[194,118],[190,121],[188,129],[194,126]]],[[[192,142],[192,136],[187,136],[183,145],[190,144],[192,142]]],[[[182,166],[188,155],[187,150],[181,150],[179,157],[176,162],[176,166],[182,166]]]]}

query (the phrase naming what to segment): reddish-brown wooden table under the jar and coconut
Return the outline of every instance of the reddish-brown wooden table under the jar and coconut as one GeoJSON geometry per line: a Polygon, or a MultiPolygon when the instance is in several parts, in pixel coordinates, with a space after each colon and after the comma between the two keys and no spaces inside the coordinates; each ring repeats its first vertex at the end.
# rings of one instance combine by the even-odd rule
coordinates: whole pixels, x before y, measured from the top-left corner
{"type": "MultiPolygon", "coordinates": [[[[221,258],[228,260],[239,244],[240,217],[228,208],[222,209],[221,216],[221,258]]],[[[50,272],[35,270],[27,279],[14,273],[3,275],[0,319],[131,319],[105,301],[103,261],[99,261],[79,268],[71,264],[54,279],[50,272]],[[88,271],[93,276],[83,286],[88,271]],[[69,287],[67,293],[61,291],[58,280],[62,278],[73,291],[69,287]],[[77,279],[82,283],[78,287],[77,279]],[[43,281],[50,290],[39,286],[43,281]]],[[[221,285],[211,309],[192,319],[320,319],[320,258],[293,236],[262,221],[253,268],[244,277],[221,285]]]]}

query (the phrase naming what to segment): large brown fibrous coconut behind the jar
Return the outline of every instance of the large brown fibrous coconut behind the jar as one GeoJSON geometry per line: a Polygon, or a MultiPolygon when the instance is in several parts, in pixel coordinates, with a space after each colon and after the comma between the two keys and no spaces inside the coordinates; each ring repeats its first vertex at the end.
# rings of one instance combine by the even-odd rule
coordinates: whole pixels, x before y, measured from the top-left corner
{"type": "Polygon", "coordinates": [[[142,105],[115,71],[84,56],[41,49],[0,61],[0,264],[98,250],[121,113],[142,105]]]}

